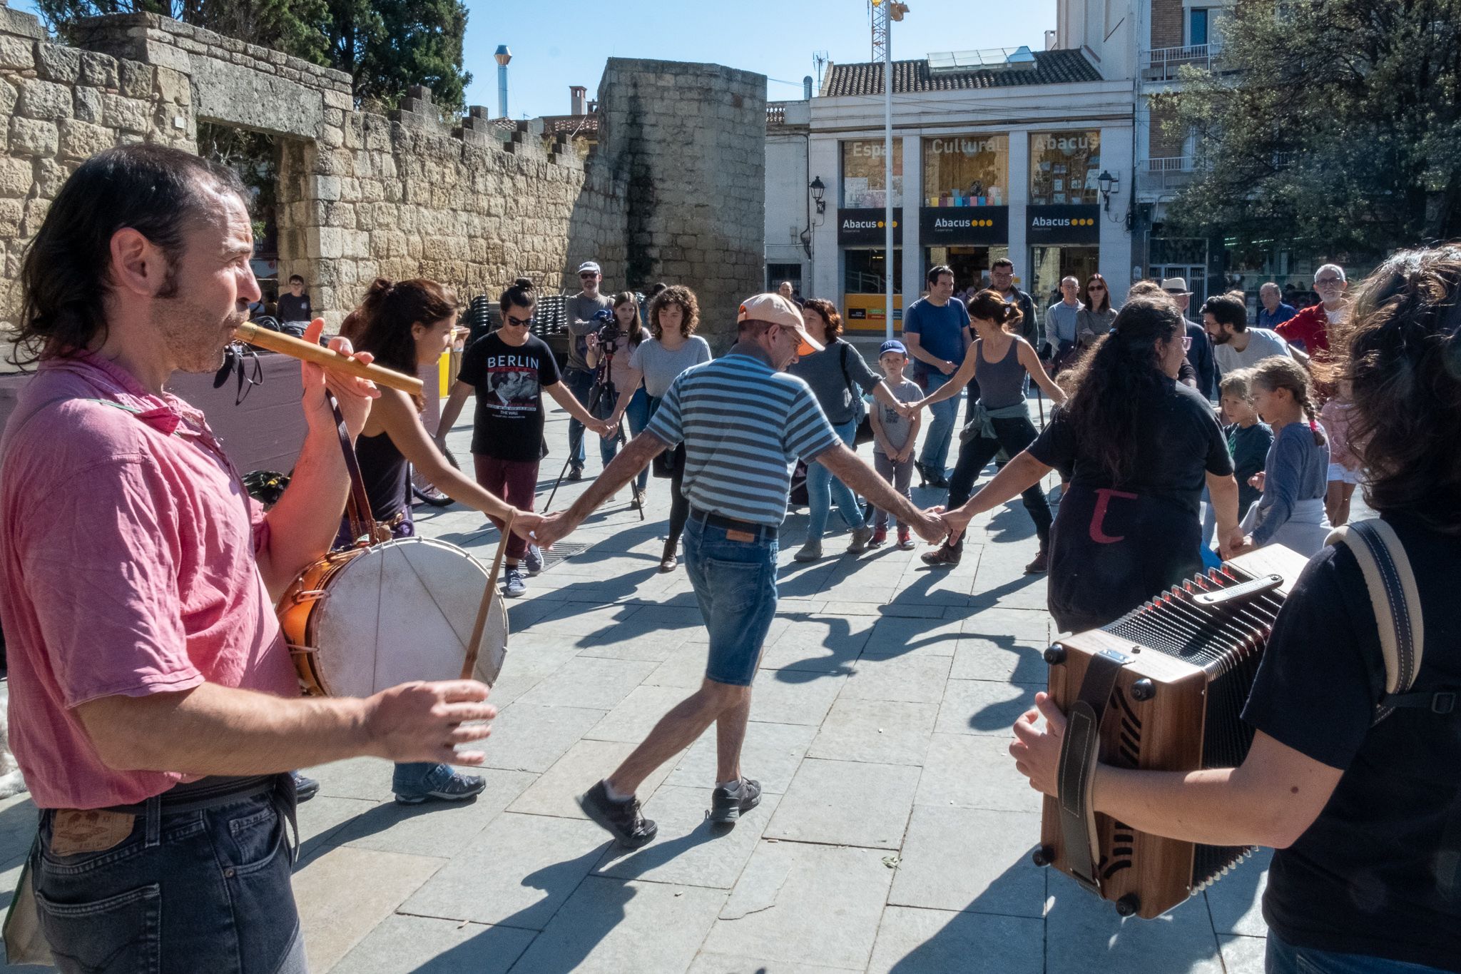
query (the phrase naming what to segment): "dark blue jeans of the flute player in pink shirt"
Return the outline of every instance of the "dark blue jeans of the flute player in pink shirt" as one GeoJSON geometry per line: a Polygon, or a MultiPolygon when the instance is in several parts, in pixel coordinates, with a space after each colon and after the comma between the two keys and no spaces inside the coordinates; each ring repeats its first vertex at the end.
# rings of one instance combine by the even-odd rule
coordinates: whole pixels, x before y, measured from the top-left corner
{"type": "Polygon", "coordinates": [[[137,815],[104,851],[57,856],[41,812],[31,881],[63,974],[302,974],[286,824],[270,796],[137,815]]]}

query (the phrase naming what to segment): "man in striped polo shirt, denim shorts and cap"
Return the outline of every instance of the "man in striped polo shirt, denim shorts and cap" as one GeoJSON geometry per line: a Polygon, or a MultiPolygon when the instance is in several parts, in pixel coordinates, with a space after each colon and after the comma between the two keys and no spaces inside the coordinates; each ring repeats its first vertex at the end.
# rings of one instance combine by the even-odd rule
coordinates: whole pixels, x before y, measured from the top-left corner
{"type": "Polygon", "coordinates": [[[843,445],[806,383],[782,369],[821,350],[796,305],[774,294],[748,298],[739,333],[723,358],[685,369],[649,426],[605,467],[573,507],[538,529],[541,545],[567,536],[660,451],[685,444],[685,571],[710,634],[706,679],[665,714],[614,774],[579,799],[621,844],[655,838],[634,791],[659,765],[712,724],[717,770],[710,818],[733,822],[761,800],[761,786],[741,775],[741,742],[751,714],[751,679],[776,615],[776,534],[786,517],[790,464],[817,460],[853,491],[922,537],[947,534],[934,513],[913,507],[843,445]]]}

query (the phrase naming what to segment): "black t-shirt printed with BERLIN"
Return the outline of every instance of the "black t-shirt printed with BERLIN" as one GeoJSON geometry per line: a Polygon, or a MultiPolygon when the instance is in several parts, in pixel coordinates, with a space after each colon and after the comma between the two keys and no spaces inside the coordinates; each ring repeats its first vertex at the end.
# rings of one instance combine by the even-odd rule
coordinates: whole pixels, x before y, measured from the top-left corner
{"type": "Polygon", "coordinates": [[[542,339],[519,346],[487,334],[462,355],[457,380],[476,387],[472,453],[498,460],[542,456],[542,390],[560,381],[558,362],[542,339]]]}

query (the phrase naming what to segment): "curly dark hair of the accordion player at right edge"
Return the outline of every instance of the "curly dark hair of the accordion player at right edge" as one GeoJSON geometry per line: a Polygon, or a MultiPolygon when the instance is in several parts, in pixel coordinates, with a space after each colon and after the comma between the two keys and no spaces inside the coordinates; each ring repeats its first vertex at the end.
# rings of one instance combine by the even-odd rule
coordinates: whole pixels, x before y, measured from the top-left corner
{"type": "Polygon", "coordinates": [[[1461,244],[1392,254],[1338,337],[1366,502],[1461,536],[1461,244]]]}

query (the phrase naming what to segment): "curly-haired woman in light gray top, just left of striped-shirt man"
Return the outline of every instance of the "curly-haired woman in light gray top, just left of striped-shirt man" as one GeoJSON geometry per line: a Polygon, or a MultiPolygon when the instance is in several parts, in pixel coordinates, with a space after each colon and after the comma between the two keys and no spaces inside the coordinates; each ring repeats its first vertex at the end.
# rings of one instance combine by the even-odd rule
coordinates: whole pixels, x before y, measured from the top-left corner
{"type": "MultiPolygon", "coordinates": [[[[690,288],[665,288],[649,302],[650,337],[634,346],[630,355],[630,368],[643,375],[644,394],[649,396],[649,416],[659,409],[659,402],[669,391],[669,384],[691,365],[710,361],[710,345],[695,334],[700,324],[700,302],[690,288]]],[[[614,415],[609,423],[617,425],[624,419],[624,412],[630,409],[636,390],[619,388],[619,400],[614,404],[614,415]]],[[[630,423],[634,425],[633,422],[630,423]]],[[[634,431],[638,435],[643,425],[634,431]]],[[[681,444],[671,451],[659,454],[655,461],[655,476],[669,478],[669,534],[665,537],[665,552],[659,558],[660,571],[674,571],[679,551],[679,533],[685,529],[685,518],[690,517],[690,501],[679,491],[681,478],[685,472],[685,445],[681,444]]]]}

